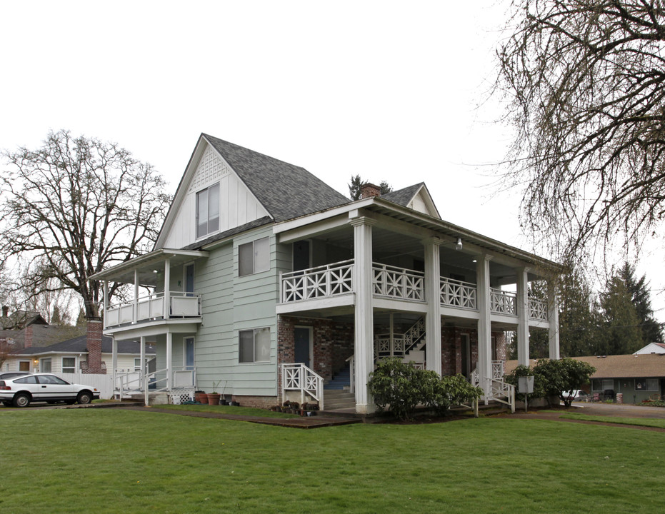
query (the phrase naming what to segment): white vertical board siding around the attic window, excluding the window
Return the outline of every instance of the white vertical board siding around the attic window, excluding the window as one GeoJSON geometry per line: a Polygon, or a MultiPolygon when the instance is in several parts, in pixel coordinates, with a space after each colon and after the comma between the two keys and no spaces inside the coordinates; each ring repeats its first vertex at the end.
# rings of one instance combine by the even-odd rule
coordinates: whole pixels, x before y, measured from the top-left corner
{"type": "MultiPolygon", "coordinates": [[[[164,241],[164,248],[183,248],[196,241],[196,193],[219,183],[219,231],[268,216],[247,186],[217,151],[207,145],[201,153],[196,171],[188,183],[186,195],[176,207],[176,216],[164,241]]],[[[188,173],[186,173],[187,176],[188,173]]]]}

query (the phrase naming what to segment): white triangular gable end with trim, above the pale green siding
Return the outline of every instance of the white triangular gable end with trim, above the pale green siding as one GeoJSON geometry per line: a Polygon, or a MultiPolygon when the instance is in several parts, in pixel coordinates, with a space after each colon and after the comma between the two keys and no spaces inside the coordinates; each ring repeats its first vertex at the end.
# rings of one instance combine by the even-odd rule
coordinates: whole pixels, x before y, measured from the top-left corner
{"type": "Polygon", "coordinates": [[[266,208],[219,152],[201,137],[176,191],[155,249],[184,248],[213,233],[228,231],[264,216],[269,216],[266,208]],[[211,212],[218,213],[219,221],[197,236],[199,201],[211,201],[211,212]]]}

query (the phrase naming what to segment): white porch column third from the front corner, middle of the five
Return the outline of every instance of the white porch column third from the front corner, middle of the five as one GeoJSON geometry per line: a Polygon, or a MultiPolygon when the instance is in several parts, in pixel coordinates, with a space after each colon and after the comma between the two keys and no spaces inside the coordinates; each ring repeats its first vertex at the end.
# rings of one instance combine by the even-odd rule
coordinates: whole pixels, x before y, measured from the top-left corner
{"type": "Polygon", "coordinates": [[[492,338],[489,292],[489,261],[491,256],[478,256],[476,263],[476,283],[478,287],[478,377],[487,402],[491,393],[492,376],[492,338]]]}

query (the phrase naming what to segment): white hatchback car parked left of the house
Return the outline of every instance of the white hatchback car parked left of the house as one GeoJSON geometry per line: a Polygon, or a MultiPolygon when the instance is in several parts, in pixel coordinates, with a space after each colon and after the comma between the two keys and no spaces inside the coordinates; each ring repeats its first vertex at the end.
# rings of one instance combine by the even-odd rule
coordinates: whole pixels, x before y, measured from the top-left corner
{"type": "Polygon", "coordinates": [[[99,390],[96,388],[69,383],[50,373],[0,380],[0,401],[7,407],[27,407],[31,402],[90,403],[92,400],[99,400],[99,390]]]}

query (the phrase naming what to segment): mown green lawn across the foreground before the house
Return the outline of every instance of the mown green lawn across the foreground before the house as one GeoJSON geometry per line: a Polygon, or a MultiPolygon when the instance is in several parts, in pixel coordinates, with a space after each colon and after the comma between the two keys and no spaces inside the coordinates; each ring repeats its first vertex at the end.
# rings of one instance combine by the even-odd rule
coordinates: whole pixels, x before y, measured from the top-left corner
{"type": "Polygon", "coordinates": [[[0,409],[0,512],[656,513],[664,435],[543,420],[299,430],[0,409]]]}

